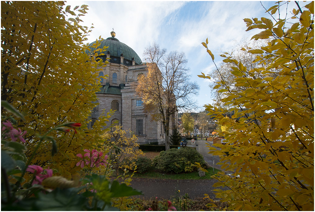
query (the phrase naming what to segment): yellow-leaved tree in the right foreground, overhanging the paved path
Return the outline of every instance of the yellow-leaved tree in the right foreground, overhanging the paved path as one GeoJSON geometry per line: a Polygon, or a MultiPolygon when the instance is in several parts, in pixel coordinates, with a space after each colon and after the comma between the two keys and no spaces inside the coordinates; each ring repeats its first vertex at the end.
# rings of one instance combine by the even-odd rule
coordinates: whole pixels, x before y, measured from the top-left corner
{"type": "Polygon", "coordinates": [[[314,210],[314,2],[302,8],[295,2],[292,16],[280,19],[286,4],[267,10],[273,20],[244,19],[247,30],[263,29],[252,39],[266,39],[267,45],[248,51],[262,66],[221,55],[231,64],[233,86],[242,90],[218,81],[215,89],[221,87],[229,109],[206,106],[218,124],[235,130],[223,132],[230,145],[210,148],[221,155],[222,168],[234,172],[215,176],[215,186],[227,187],[215,191],[229,210],[314,210]]]}

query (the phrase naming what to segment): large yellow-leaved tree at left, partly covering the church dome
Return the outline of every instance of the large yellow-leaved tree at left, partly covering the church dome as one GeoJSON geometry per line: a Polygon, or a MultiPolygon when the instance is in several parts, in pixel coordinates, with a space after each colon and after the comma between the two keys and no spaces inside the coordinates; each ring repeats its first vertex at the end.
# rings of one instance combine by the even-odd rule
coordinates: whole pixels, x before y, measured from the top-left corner
{"type": "MultiPolygon", "coordinates": [[[[87,5],[71,10],[64,2],[1,2],[1,100],[20,111],[26,121],[16,127],[27,130],[26,156],[31,164],[54,168],[65,177],[77,172],[76,154],[95,149],[103,139],[103,115],[87,128],[99,91],[98,68],[105,65],[87,55],[83,41],[90,32],[80,25],[87,5]],[[77,122],[77,133],[54,131],[52,127],[77,122]],[[78,126],[78,125],[77,125],[78,126]]],[[[8,115],[1,108],[2,115],[8,115]]],[[[25,168],[24,168],[25,170],[25,168]]]]}

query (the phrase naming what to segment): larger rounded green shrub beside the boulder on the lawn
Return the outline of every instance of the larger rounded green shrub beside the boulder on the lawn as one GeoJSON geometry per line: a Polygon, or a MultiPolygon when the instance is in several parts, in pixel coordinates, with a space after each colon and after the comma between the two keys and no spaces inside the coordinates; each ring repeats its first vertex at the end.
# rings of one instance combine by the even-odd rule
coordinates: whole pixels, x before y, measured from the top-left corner
{"type": "Polygon", "coordinates": [[[203,156],[196,149],[169,149],[160,152],[153,159],[153,166],[161,172],[192,172],[198,169],[198,167],[193,166],[195,162],[200,163],[201,166],[205,165],[203,156]]]}

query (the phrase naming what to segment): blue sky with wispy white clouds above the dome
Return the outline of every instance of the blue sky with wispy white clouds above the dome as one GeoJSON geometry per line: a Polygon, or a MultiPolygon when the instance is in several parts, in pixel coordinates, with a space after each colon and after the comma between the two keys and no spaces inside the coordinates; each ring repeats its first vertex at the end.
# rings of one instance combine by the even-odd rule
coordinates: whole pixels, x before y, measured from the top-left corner
{"type": "MultiPolygon", "coordinates": [[[[203,105],[213,103],[213,91],[208,79],[198,78],[197,74],[211,73],[215,65],[201,43],[208,38],[208,48],[219,65],[222,52],[230,52],[236,43],[250,41],[261,31],[246,32],[244,18],[271,19],[261,3],[266,9],[275,5],[275,1],[67,1],[66,5],[71,9],[89,6],[88,14],[80,16],[81,25],[94,26],[88,43],[100,36],[110,37],[114,28],[115,38],[130,46],[141,59],[145,47],[154,42],[168,52],[184,52],[191,80],[200,86],[194,111],[203,111],[203,105]]],[[[288,11],[293,8],[295,3],[289,3],[288,11]]]]}

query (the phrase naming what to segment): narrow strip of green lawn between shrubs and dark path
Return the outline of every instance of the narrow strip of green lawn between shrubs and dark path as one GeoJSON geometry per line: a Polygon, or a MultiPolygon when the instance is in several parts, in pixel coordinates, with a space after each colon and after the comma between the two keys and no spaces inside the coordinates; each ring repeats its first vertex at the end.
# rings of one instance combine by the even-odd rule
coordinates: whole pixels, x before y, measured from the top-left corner
{"type": "MultiPolygon", "coordinates": [[[[211,175],[213,175],[213,168],[210,167],[207,169],[209,173],[206,172],[206,176],[199,177],[198,171],[196,172],[190,172],[190,173],[179,173],[179,174],[163,174],[156,171],[149,171],[146,173],[135,173],[134,177],[137,178],[154,178],[154,179],[173,179],[173,180],[206,180],[211,179],[211,175]]],[[[215,168],[215,173],[219,172],[220,170],[215,168]]]]}

